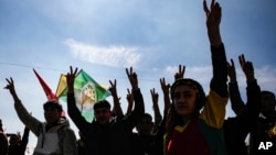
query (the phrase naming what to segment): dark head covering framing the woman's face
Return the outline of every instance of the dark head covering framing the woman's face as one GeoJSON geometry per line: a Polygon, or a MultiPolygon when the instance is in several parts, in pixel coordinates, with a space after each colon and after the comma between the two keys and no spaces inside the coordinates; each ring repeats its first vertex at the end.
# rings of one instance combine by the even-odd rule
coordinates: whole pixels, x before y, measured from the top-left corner
{"type": "Polygon", "coordinates": [[[205,97],[205,92],[204,92],[202,86],[193,79],[190,79],[190,78],[177,79],[171,86],[171,91],[170,91],[171,100],[173,100],[173,98],[174,98],[176,88],[178,86],[184,86],[184,85],[191,86],[195,89],[195,91],[197,91],[195,112],[199,112],[201,110],[201,108],[205,104],[206,97],[205,97]]]}

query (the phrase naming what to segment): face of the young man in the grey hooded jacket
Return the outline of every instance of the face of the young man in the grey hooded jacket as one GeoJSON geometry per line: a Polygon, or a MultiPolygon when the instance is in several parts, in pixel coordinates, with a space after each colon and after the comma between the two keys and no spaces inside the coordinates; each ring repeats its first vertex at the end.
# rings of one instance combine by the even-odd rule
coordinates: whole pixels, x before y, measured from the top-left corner
{"type": "Polygon", "coordinates": [[[61,112],[56,108],[49,107],[44,109],[44,118],[47,124],[52,124],[61,118],[61,112]]]}

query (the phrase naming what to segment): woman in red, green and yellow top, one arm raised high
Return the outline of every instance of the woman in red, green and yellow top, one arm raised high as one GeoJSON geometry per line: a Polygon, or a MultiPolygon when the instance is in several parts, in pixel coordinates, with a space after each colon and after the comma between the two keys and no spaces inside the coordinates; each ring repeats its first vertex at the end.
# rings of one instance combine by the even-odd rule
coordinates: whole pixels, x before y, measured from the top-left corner
{"type": "Polygon", "coordinates": [[[203,1],[211,45],[213,77],[209,95],[194,79],[178,78],[170,88],[171,107],[166,123],[164,154],[225,155],[223,122],[227,93],[227,62],[220,34],[221,7],[203,1]]]}

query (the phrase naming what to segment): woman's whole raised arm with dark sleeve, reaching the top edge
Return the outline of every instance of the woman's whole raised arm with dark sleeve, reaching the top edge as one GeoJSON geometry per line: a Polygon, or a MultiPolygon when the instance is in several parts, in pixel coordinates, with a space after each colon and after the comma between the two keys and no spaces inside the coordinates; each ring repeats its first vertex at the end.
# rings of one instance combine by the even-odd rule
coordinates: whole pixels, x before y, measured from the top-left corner
{"type": "Polygon", "coordinates": [[[210,9],[204,0],[203,9],[206,15],[206,29],[212,54],[213,78],[211,89],[221,97],[227,97],[227,62],[220,33],[222,9],[215,0],[212,0],[210,9]]]}

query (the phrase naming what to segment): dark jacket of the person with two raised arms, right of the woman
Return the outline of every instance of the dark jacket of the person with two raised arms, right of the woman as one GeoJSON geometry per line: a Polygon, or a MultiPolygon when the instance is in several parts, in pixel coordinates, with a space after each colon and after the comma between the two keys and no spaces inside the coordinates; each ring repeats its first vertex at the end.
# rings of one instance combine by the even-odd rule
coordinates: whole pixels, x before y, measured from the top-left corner
{"type": "Polygon", "coordinates": [[[240,96],[237,82],[229,85],[230,100],[232,108],[238,111],[234,118],[229,118],[224,122],[225,145],[229,155],[247,155],[248,148],[245,144],[247,134],[253,130],[255,120],[258,117],[261,108],[261,88],[257,81],[247,82],[246,93],[247,103],[244,102],[240,96]],[[237,107],[243,106],[243,109],[237,107]]]}

